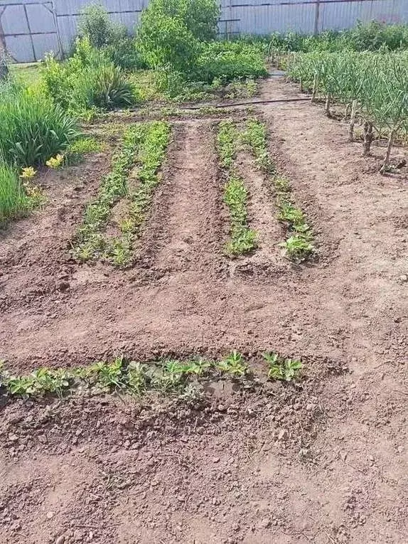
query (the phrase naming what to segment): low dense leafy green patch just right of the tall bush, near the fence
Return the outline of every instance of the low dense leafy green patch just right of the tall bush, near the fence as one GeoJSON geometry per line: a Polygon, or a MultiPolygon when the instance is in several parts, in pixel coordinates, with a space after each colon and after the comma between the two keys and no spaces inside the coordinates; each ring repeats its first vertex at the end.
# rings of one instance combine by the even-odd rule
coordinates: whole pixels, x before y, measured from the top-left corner
{"type": "Polygon", "coordinates": [[[223,83],[235,78],[261,78],[267,75],[262,45],[242,42],[213,42],[198,57],[196,78],[223,83]]]}

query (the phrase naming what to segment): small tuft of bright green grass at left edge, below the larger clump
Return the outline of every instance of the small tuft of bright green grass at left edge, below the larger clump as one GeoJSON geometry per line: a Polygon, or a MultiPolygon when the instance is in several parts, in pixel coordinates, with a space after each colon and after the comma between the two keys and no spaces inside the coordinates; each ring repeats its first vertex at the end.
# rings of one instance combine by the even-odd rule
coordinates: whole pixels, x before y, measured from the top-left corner
{"type": "Polygon", "coordinates": [[[29,205],[16,170],[0,159],[0,227],[29,205]]]}

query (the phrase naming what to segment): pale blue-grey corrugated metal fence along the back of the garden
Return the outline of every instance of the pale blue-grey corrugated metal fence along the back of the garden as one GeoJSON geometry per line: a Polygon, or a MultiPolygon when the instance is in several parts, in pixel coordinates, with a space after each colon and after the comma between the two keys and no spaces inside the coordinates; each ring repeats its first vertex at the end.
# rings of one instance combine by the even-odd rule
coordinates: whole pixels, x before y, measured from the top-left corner
{"type": "MultiPolygon", "coordinates": [[[[149,0],[100,0],[133,30],[149,0]]],[[[17,63],[68,53],[77,20],[90,0],[0,0],[0,41],[17,63]]],[[[221,0],[220,34],[321,32],[356,21],[408,22],[408,0],[221,0]]]]}

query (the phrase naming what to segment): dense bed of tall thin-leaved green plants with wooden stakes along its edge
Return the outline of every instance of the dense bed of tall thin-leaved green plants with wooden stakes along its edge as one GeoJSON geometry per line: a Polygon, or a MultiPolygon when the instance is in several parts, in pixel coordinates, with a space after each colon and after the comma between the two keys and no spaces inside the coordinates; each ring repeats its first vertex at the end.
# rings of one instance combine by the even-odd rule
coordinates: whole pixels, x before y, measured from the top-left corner
{"type": "Polygon", "coordinates": [[[356,119],[364,122],[363,154],[370,154],[374,130],[388,134],[381,172],[390,169],[392,145],[398,132],[408,130],[408,52],[304,53],[289,58],[289,77],[326,97],[326,114],[333,100],[346,105],[350,114],[349,140],[354,139],[356,119]]]}

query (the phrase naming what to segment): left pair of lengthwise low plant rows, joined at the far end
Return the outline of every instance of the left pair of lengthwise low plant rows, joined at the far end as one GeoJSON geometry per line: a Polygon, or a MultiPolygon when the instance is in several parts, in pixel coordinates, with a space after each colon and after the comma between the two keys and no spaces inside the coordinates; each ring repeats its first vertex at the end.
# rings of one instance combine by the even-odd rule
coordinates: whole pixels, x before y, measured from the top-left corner
{"type": "Polygon", "coordinates": [[[124,133],[122,147],[112,159],[112,171],[102,180],[100,193],[87,206],[77,231],[73,252],[79,260],[104,257],[121,267],[131,264],[133,241],[160,181],[158,172],[170,134],[170,125],[161,121],[136,124],[124,133]],[[136,164],[136,188],[131,190],[128,178],[136,164]],[[112,208],[122,198],[127,198],[129,206],[127,217],[119,225],[121,235],[107,240],[104,231],[112,208]]]}

